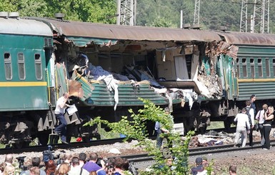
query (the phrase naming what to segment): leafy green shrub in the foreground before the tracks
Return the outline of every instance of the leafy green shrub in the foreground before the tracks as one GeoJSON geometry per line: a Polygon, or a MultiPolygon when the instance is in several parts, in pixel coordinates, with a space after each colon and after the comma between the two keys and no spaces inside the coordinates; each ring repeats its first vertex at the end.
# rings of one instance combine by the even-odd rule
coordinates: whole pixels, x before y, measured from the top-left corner
{"type": "MultiPolygon", "coordinates": [[[[148,151],[149,155],[153,156],[156,160],[156,164],[151,166],[154,174],[189,174],[188,145],[194,131],[190,131],[186,139],[183,140],[179,134],[172,131],[173,123],[171,116],[165,114],[163,109],[155,106],[151,101],[141,100],[144,102],[144,109],[139,109],[138,114],[135,114],[132,109],[129,109],[129,113],[131,114],[130,119],[128,119],[127,116],[122,116],[121,121],[109,123],[109,121],[96,117],[93,121],[89,121],[85,125],[106,124],[111,131],[125,134],[126,140],[132,138],[139,141],[138,146],[141,146],[144,151],[148,151]],[[156,148],[156,144],[153,141],[149,140],[146,131],[146,122],[148,121],[159,121],[163,124],[164,128],[171,131],[166,135],[166,137],[168,137],[168,143],[164,145],[164,148],[166,148],[165,150],[171,154],[171,156],[175,157],[173,171],[166,165],[163,152],[156,148]]],[[[164,134],[161,134],[161,136],[164,136],[164,134]]],[[[142,172],[141,174],[152,174],[152,171],[142,172]]]]}

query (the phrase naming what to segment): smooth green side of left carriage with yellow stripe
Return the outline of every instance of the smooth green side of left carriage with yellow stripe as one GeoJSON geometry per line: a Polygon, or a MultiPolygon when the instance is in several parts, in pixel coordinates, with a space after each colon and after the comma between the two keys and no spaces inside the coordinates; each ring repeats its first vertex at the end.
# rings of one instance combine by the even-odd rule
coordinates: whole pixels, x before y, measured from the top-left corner
{"type": "MultiPolygon", "coordinates": [[[[49,37],[49,36],[48,36],[49,37]]],[[[44,36],[0,34],[0,111],[49,109],[45,78],[44,36]],[[4,53],[11,56],[12,79],[6,80],[4,53]],[[24,54],[26,79],[19,79],[17,54],[24,54]],[[41,56],[42,79],[36,79],[34,55],[41,56]]]]}

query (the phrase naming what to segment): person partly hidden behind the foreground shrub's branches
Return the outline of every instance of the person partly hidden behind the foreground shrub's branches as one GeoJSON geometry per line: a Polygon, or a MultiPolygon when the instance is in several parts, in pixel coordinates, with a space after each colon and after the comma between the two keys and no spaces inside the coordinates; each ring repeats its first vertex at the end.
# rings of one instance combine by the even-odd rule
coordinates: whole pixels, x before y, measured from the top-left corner
{"type": "MultiPolygon", "coordinates": [[[[170,115],[170,109],[166,107],[164,111],[165,111],[165,114],[171,117],[171,119],[173,120],[172,116],[170,115]]],[[[158,149],[161,149],[162,142],[164,141],[164,138],[161,137],[161,134],[169,134],[170,132],[169,132],[169,129],[165,129],[164,126],[159,121],[156,121],[155,130],[156,130],[156,147],[158,149]]],[[[168,143],[168,140],[167,140],[167,143],[168,143]]]]}

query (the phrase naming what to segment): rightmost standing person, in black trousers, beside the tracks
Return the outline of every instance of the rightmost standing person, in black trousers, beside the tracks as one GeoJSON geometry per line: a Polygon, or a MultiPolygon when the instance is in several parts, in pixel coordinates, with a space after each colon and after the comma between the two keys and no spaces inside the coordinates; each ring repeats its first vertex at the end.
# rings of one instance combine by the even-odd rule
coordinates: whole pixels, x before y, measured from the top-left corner
{"type": "Polygon", "coordinates": [[[270,149],[270,139],[269,139],[269,134],[271,131],[271,124],[274,119],[274,108],[273,106],[269,106],[264,113],[264,140],[265,143],[263,145],[263,149],[267,150],[270,149]]]}

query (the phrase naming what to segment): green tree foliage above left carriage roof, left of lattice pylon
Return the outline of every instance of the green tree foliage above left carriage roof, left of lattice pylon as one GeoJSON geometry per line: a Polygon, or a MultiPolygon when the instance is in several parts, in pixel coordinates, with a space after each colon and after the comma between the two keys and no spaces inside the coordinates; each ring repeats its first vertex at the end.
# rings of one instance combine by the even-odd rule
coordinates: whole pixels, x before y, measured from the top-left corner
{"type": "Polygon", "coordinates": [[[19,11],[20,16],[51,17],[65,14],[66,20],[116,22],[114,0],[0,0],[0,11],[19,11]]]}

